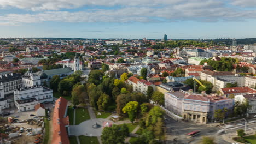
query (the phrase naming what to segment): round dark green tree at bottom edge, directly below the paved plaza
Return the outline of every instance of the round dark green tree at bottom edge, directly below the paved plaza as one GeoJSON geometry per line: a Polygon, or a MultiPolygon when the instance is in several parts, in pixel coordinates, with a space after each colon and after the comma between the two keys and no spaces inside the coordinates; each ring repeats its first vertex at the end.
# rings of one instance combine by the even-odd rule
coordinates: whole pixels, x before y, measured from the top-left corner
{"type": "Polygon", "coordinates": [[[112,125],[112,127],[105,127],[102,131],[101,140],[106,144],[119,144],[124,143],[124,131],[119,125],[112,125]]]}

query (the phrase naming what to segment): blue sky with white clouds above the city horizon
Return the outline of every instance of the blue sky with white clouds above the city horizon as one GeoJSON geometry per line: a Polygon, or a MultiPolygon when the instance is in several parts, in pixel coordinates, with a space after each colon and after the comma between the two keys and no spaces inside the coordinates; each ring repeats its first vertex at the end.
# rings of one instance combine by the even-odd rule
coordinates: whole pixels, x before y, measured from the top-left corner
{"type": "Polygon", "coordinates": [[[256,38],[255,0],[0,0],[0,37],[256,38]]]}

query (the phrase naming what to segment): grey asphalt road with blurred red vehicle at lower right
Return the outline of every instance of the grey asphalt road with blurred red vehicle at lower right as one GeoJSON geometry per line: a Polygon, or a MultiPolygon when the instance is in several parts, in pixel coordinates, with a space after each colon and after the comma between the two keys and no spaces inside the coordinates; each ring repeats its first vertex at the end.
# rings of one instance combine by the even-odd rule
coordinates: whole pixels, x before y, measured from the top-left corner
{"type": "Polygon", "coordinates": [[[184,122],[184,121],[175,121],[171,117],[165,116],[165,124],[166,124],[166,143],[174,143],[174,144],[197,144],[200,143],[202,136],[211,136],[215,137],[216,143],[218,144],[230,144],[230,142],[226,142],[222,139],[221,136],[216,135],[217,131],[222,129],[221,127],[209,126],[207,124],[196,124],[193,122],[184,122]],[[201,133],[192,138],[188,138],[186,134],[190,133],[194,130],[200,130],[201,133]],[[178,139],[174,141],[174,139],[178,139]]]}

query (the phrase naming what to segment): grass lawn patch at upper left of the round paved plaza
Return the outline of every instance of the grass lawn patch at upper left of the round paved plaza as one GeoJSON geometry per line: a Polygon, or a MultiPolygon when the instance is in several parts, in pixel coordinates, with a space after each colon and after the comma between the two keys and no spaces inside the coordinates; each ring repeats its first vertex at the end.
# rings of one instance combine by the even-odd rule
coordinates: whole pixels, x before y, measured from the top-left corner
{"type": "Polygon", "coordinates": [[[75,110],[75,125],[82,123],[88,119],[91,119],[91,118],[86,108],[78,107],[75,110]]]}

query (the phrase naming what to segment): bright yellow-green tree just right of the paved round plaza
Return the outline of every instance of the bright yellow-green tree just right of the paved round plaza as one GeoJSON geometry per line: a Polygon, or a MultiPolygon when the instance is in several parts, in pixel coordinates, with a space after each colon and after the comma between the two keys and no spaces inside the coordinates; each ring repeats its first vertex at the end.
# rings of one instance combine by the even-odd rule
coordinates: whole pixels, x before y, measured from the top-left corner
{"type": "Polygon", "coordinates": [[[136,117],[136,113],[138,111],[138,102],[137,101],[130,101],[127,103],[124,108],[122,109],[124,113],[128,113],[130,121],[133,123],[136,117]]]}

